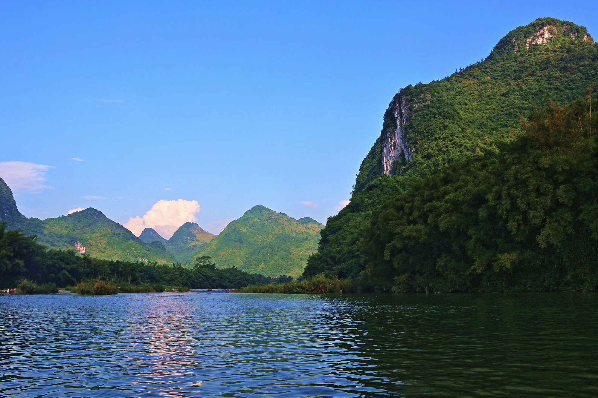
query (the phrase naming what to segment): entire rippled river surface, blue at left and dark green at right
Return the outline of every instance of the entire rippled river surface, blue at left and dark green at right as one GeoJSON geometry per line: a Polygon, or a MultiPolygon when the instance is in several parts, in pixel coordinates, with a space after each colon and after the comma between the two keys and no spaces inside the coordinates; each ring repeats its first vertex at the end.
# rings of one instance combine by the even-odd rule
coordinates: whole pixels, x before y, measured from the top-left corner
{"type": "Polygon", "coordinates": [[[0,297],[0,396],[596,397],[596,293],[0,297]]]}

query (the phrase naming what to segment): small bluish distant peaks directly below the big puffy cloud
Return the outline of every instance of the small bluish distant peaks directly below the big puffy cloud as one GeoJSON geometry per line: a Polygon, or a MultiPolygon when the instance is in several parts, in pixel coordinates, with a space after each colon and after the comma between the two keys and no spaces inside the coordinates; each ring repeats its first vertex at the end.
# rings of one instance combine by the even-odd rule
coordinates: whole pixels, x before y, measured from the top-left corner
{"type": "Polygon", "coordinates": [[[152,228],[145,228],[139,239],[148,244],[160,243],[164,249],[182,264],[193,264],[197,250],[206,246],[216,235],[204,231],[194,222],[185,222],[170,237],[164,239],[152,228]]]}

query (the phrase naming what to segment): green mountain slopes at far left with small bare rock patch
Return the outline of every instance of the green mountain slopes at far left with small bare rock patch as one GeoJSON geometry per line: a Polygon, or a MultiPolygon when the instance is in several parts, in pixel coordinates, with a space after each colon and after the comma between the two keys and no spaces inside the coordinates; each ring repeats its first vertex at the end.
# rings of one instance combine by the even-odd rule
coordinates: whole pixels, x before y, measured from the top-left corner
{"type": "Polygon", "coordinates": [[[0,222],[6,222],[8,229],[35,234],[39,244],[51,249],[75,249],[108,260],[176,262],[163,247],[142,242],[129,229],[91,207],[58,218],[28,219],[17,209],[13,192],[1,178],[0,211],[0,222]]]}

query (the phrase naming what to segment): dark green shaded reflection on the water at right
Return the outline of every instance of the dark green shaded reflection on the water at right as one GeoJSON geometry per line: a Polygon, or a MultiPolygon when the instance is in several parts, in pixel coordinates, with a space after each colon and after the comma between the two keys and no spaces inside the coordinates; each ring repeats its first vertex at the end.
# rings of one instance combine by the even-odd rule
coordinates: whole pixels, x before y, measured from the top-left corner
{"type": "Polygon", "coordinates": [[[597,296],[374,296],[357,332],[404,396],[598,396],[597,296]],[[580,377],[583,373],[585,376],[580,377]],[[588,377],[589,376],[589,377],[588,377]],[[572,393],[575,391],[575,393],[572,393]]]}

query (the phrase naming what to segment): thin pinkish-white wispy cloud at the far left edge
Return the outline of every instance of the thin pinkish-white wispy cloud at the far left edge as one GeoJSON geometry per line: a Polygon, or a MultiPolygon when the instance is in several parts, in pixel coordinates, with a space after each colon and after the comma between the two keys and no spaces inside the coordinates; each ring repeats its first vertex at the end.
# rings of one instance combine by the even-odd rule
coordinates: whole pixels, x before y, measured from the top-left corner
{"type": "Polygon", "coordinates": [[[0,177],[13,192],[39,194],[42,189],[52,188],[44,185],[45,173],[52,166],[29,162],[0,162],[0,177]]]}

